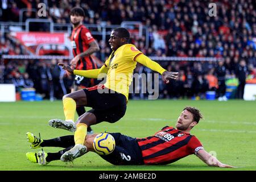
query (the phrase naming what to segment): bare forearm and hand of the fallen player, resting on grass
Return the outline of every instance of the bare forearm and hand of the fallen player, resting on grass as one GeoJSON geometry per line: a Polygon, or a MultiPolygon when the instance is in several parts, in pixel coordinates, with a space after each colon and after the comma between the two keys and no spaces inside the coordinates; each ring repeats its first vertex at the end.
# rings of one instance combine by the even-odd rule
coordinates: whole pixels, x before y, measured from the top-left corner
{"type": "Polygon", "coordinates": [[[215,167],[226,167],[226,168],[234,168],[234,166],[230,166],[228,164],[221,163],[216,157],[210,155],[205,150],[199,150],[197,152],[197,156],[208,166],[215,166],[215,167]]]}

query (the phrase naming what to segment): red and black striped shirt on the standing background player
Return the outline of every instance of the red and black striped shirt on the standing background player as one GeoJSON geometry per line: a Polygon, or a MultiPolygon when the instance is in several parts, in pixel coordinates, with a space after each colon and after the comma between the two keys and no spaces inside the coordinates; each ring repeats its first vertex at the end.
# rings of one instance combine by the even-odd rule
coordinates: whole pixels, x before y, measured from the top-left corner
{"type": "MultiPolygon", "coordinates": [[[[71,35],[71,44],[73,48],[74,57],[86,51],[89,48],[89,44],[93,41],[93,36],[90,34],[90,31],[84,25],[81,24],[80,26],[74,28],[71,35]]],[[[79,62],[76,65],[76,69],[97,69],[97,64],[89,55],[82,57],[79,60],[79,62]]]]}

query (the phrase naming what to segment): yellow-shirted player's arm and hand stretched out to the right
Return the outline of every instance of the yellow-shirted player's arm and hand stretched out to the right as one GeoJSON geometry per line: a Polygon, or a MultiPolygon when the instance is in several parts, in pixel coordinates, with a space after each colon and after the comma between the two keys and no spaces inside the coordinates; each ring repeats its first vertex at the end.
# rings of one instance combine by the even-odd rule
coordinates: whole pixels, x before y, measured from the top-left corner
{"type": "Polygon", "coordinates": [[[137,61],[138,63],[141,63],[144,66],[146,66],[146,67],[160,73],[161,75],[163,75],[164,80],[166,81],[167,84],[171,79],[176,80],[178,75],[179,75],[179,72],[168,72],[168,71],[166,71],[166,69],[162,68],[155,61],[152,61],[149,57],[143,55],[143,53],[141,53],[141,55],[137,56],[135,61],[137,61]]]}

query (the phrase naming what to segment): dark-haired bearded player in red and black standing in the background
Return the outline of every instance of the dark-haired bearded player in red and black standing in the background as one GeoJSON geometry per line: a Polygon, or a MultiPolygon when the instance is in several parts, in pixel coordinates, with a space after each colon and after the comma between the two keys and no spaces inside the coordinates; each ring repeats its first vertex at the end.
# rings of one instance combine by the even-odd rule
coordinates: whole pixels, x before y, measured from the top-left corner
{"type": "MultiPolygon", "coordinates": [[[[81,7],[74,7],[70,12],[70,20],[73,24],[73,31],[71,35],[71,44],[73,48],[74,58],[70,64],[75,69],[88,70],[97,69],[97,64],[92,58],[92,54],[100,50],[96,40],[90,34],[89,30],[82,24],[85,18],[84,10],[81,7]]],[[[76,76],[71,92],[80,89],[89,88],[97,84],[96,79],[85,78],[83,76],[76,76]]],[[[77,114],[81,116],[85,113],[84,106],[76,107],[77,114]]],[[[88,127],[88,134],[92,134],[93,130],[88,127]]]]}

